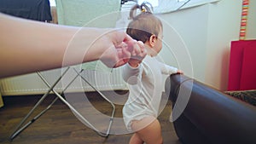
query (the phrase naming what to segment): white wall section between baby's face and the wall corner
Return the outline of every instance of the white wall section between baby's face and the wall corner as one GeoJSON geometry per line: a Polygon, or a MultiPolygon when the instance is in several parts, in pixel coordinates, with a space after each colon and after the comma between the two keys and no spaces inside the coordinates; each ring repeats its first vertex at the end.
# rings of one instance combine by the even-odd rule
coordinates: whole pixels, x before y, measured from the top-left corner
{"type": "MultiPolygon", "coordinates": [[[[189,55],[185,55],[185,51],[182,48],[184,55],[173,54],[177,59],[182,59],[177,60],[177,66],[182,69],[186,75],[204,81],[207,59],[206,44],[208,7],[200,6],[192,9],[183,9],[174,13],[160,14],[159,16],[170,25],[164,25],[164,43],[169,43],[172,49],[180,49],[175,47],[175,44],[178,41],[175,40],[175,37],[178,37],[177,34],[176,36],[170,37],[170,35],[172,35],[172,29],[170,27],[173,27],[173,29],[175,29],[183,39],[183,43],[186,44],[189,51],[189,55]],[[188,59],[188,56],[190,56],[190,62],[192,62],[192,64],[189,62],[187,62],[187,64],[183,64],[183,59],[188,59]],[[181,67],[180,65],[182,64],[185,66],[181,67]],[[189,72],[191,70],[187,69],[187,67],[191,67],[190,65],[192,65],[193,68],[192,74],[189,72]]],[[[170,56],[166,56],[169,54],[166,52],[165,47],[163,47],[160,55],[165,59],[166,63],[170,65],[173,65],[173,63],[175,64],[175,61],[171,60],[170,56]]]]}

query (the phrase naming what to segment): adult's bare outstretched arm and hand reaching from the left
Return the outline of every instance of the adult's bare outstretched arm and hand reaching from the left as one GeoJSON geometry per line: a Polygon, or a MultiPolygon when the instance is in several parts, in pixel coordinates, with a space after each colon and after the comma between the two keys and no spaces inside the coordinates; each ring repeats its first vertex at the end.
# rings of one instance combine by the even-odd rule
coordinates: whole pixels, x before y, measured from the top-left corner
{"type": "Polygon", "coordinates": [[[58,26],[1,13],[0,21],[0,78],[99,59],[122,66],[140,49],[113,29],[58,26]]]}

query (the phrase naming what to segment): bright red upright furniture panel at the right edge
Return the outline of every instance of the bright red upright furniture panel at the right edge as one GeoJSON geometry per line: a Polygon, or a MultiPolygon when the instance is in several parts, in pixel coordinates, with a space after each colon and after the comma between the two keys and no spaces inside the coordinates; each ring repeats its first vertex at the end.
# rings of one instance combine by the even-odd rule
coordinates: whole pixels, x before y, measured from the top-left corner
{"type": "Polygon", "coordinates": [[[256,40],[232,41],[228,90],[256,89],[256,40]]]}

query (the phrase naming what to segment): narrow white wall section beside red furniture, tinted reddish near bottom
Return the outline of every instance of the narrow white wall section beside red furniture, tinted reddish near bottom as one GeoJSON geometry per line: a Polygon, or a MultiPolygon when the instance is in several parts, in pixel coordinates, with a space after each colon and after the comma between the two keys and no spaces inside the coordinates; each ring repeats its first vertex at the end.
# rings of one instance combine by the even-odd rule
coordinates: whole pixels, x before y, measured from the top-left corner
{"type": "Polygon", "coordinates": [[[230,41],[239,39],[241,0],[209,5],[205,82],[218,89],[228,84],[230,41]]]}

